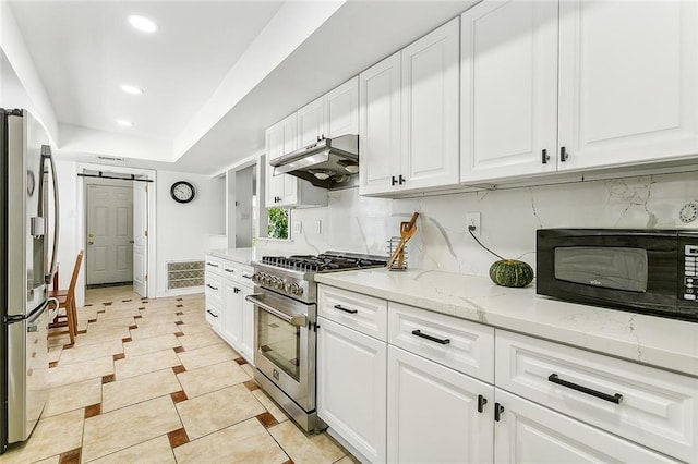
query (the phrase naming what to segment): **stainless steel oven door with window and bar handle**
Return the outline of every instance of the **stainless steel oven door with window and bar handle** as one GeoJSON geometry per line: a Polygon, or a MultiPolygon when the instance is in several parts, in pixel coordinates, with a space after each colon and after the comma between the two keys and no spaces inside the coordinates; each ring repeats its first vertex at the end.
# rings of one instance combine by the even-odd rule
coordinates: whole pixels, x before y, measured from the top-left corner
{"type": "Polygon", "coordinates": [[[314,305],[261,288],[246,298],[254,304],[256,368],[299,406],[313,411],[315,332],[309,310],[314,305]]]}

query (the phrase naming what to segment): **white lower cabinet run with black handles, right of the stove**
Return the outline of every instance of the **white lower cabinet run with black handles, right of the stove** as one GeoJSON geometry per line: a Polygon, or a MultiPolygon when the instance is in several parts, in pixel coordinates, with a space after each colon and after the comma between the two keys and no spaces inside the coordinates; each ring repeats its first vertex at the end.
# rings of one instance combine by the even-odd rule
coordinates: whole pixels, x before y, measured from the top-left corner
{"type": "Polygon", "coordinates": [[[366,461],[698,463],[696,378],[328,285],[318,295],[318,415],[366,461]]]}

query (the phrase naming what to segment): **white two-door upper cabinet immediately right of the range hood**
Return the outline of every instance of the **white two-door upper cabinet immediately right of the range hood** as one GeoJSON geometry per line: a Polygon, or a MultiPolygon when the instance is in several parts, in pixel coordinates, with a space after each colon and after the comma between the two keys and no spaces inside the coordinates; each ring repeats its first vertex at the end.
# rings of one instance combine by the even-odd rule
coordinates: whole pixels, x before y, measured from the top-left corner
{"type": "Polygon", "coordinates": [[[459,19],[359,75],[361,195],[458,183],[459,19]]]}

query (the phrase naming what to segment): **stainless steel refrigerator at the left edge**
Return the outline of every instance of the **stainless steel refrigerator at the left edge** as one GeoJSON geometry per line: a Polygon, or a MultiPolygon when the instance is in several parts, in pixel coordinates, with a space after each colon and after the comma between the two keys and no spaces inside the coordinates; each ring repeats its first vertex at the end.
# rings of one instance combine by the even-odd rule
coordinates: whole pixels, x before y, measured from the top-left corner
{"type": "Polygon", "coordinates": [[[0,109],[0,453],[29,437],[46,404],[58,222],[44,127],[25,110],[0,109]]]}

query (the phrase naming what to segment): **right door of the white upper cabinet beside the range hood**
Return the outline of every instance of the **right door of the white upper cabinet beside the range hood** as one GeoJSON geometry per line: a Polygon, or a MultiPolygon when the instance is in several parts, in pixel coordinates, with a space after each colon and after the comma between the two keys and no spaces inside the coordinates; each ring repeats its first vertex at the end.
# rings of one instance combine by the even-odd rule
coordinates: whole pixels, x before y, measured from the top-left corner
{"type": "Polygon", "coordinates": [[[459,28],[456,17],[401,51],[404,188],[458,183],[459,28]]]}

